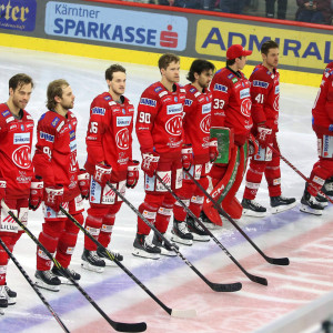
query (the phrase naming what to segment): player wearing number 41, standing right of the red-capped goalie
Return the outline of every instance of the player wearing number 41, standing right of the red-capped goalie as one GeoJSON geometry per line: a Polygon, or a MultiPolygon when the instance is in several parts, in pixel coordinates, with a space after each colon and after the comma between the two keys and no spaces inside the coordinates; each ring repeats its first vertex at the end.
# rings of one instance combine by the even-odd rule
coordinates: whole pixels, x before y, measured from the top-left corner
{"type": "Polygon", "coordinates": [[[295,206],[294,198],[281,195],[280,155],[269,148],[270,144],[276,151],[279,144],[276,133],[279,131],[279,99],[280,73],[279,46],[270,40],[262,44],[261,54],[263,62],[256,65],[250,77],[252,99],[252,133],[259,142],[259,152],[250,162],[246,173],[246,183],[242,200],[243,214],[250,216],[263,216],[266,208],[254,201],[263,173],[265,174],[269,194],[271,198],[272,213],[279,213],[295,206]]]}

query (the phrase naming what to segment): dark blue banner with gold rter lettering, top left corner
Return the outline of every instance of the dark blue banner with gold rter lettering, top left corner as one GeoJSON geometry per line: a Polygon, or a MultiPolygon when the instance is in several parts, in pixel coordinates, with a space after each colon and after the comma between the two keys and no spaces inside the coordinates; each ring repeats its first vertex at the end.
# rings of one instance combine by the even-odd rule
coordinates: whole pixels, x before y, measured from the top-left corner
{"type": "Polygon", "coordinates": [[[0,29],[33,31],[36,0],[0,0],[0,29]]]}

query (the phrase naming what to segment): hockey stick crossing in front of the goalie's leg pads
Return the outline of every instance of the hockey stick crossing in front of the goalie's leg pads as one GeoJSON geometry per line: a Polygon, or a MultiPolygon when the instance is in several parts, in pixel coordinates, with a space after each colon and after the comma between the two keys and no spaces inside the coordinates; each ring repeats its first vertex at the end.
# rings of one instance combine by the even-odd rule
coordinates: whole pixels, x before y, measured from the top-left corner
{"type": "Polygon", "coordinates": [[[198,180],[194,179],[194,176],[189,172],[185,171],[185,173],[190,176],[190,179],[195,183],[195,185],[202,191],[202,193],[213,203],[214,208],[218,210],[218,212],[223,215],[243,236],[244,239],[259,252],[260,255],[262,255],[266,262],[274,265],[289,265],[289,259],[287,258],[270,258],[265,255],[256,245],[255,243],[246,235],[246,233],[238,225],[238,223],[222,209],[221,205],[216,203],[216,201],[210,195],[206,190],[200,184],[198,180]]]}

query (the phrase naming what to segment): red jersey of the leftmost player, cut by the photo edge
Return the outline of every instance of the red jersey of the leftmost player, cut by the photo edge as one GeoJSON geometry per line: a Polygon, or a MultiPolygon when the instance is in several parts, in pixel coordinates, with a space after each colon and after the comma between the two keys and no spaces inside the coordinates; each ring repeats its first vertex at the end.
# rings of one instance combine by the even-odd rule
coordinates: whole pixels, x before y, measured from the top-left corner
{"type": "Polygon", "coordinates": [[[33,176],[33,120],[24,110],[20,115],[14,118],[7,104],[0,104],[0,176],[7,181],[8,199],[28,198],[33,176]]]}

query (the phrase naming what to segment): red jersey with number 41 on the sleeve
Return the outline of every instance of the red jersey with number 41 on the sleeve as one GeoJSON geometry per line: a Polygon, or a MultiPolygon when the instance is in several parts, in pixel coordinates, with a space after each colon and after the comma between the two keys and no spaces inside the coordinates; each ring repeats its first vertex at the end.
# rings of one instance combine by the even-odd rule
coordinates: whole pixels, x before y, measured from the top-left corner
{"type": "Polygon", "coordinates": [[[254,68],[251,77],[252,120],[254,124],[264,123],[278,132],[280,73],[278,69],[269,71],[263,64],[254,68]]]}

